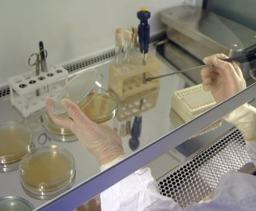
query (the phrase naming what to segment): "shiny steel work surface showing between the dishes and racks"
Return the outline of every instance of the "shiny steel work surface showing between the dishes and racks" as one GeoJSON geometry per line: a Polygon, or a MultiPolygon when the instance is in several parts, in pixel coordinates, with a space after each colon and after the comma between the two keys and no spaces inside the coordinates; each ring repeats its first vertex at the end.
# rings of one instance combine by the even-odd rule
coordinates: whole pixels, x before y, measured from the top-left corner
{"type": "MultiPolygon", "coordinates": [[[[151,49],[151,54],[155,55],[155,49],[151,49]]],[[[113,58],[109,58],[109,60],[105,61],[103,64],[97,66],[98,71],[103,74],[104,81],[103,87],[107,89],[107,81],[108,81],[108,69],[109,65],[112,63],[113,58]]],[[[162,64],[162,73],[168,73],[171,71],[175,71],[175,69],[171,69],[170,67],[162,64]]],[[[187,80],[185,77],[181,77],[180,75],[176,75],[172,78],[164,78],[161,81],[161,86],[158,93],[158,98],[156,98],[156,105],[154,108],[147,110],[146,112],[142,112],[142,131],[141,137],[139,138],[139,146],[136,150],[146,146],[150,142],[162,135],[168,133],[168,131],[173,130],[176,127],[176,122],[171,121],[169,113],[171,108],[171,96],[175,90],[183,89],[184,87],[191,86],[193,83],[187,80]]],[[[58,142],[52,139],[48,133],[46,133],[43,128],[40,115],[44,113],[38,112],[34,115],[29,116],[28,118],[23,118],[22,115],[16,110],[10,103],[10,95],[8,95],[10,91],[2,90],[2,95],[0,97],[0,107],[1,107],[1,120],[0,122],[5,121],[18,121],[24,122],[24,124],[29,125],[31,130],[33,131],[34,143],[35,147],[41,145],[58,145],[62,146],[69,150],[75,159],[75,169],[76,169],[76,178],[75,178],[75,187],[77,184],[82,183],[85,180],[93,177],[95,174],[99,172],[99,166],[97,160],[88,153],[88,151],[83,148],[82,145],[78,141],[75,142],[58,142]]],[[[132,119],[130,119],[132,121],[132,119]]],[[[120,125],[123,122],[119,122],[116,118],[109,121],[109,124],[115,129],[120,130],[120,125]]],[[[132,154],[134,151],[129,146],[130,135],[126,135],[122,137],[124,150],[127,155],[132,154]]],[[[39,207],[44,204],[46,201],[36,200],[34,198],[28,197],[25,194],[22,186],[19,182],[18,171],[12,172],[2,172],[0,173],[0,194],[1,196],[8,195],[16,195],[30,201],[34,207],[39,207]]]]}

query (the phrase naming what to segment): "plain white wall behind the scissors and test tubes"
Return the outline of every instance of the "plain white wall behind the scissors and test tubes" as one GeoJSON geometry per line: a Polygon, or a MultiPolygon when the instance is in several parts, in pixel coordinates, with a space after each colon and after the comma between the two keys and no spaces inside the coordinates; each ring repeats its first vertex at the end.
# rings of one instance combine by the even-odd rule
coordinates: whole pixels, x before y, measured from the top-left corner
{"type": "MultiPolygon", "coordinates": [[[[187,1],[194,4],[193,0],[187,1]]],[[[136,27],[136,12],[147,7],[151,34],[164,29],[159,11],[182,0],[1,0],[0,86],[7,78],[30,71],[28,57],[42,40],[48,64],[64,65],[114,48],[115,28],[136,27]]]]}

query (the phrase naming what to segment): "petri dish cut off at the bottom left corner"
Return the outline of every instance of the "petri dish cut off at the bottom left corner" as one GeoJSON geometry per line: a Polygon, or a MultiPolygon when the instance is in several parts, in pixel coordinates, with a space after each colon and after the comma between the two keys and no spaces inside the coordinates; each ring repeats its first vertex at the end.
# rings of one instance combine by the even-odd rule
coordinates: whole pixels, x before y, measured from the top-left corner
{"type": "Polygon", "coordinates": [[[0,198],[0,210],[2,211],[31,211],[34,210],[33,204],[25,200],[25,198],[8,196],[0,198]]]}

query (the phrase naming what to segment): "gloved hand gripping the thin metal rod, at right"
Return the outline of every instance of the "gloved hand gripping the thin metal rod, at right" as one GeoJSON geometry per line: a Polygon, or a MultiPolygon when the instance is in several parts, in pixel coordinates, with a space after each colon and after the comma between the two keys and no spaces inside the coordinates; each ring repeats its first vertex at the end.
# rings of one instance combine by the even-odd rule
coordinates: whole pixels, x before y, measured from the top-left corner
{"type": "Polygon", "coordinates": [[[210,90],[217,103],[229,98],[245,89],[246,82],[241,69],[235,62],[229,63],[222,59],[228,58],[225,54],[214,54],[205,57],[205,64],[213,63],[214,66],[202,68],[203,88],[210,90]]]}

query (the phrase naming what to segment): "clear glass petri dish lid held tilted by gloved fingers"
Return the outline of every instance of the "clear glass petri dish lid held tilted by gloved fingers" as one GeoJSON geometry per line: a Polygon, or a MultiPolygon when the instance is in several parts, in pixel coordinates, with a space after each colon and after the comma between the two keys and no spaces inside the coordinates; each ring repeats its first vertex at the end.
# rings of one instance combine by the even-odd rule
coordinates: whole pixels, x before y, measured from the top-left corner
{"type": "Polygon", "coordinates": [[[62,115],[66,110],[60,104],[63,98],[71,99],[83,109],[101,87],[103,75],[96,69],[86,70],[72,78],[63,89],[54,97],[52,111],[54,115],[62,115]]]}

